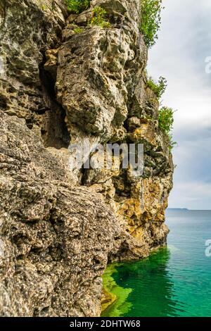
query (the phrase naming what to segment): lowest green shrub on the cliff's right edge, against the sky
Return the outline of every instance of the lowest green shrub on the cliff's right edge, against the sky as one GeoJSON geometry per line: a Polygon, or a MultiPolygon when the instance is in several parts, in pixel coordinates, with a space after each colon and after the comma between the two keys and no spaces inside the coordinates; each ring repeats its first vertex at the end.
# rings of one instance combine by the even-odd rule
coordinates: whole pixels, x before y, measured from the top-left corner
{"type": "Polygon", "coordinates": [[[172,129],[174,124],[174,111],[172,108],[162,107],[159,110],[158,114],[158,124],[162,132],[165,133],[170,139],[170,150],[177,145],[177,142],[174,142],[172,137],[172,129]]]}

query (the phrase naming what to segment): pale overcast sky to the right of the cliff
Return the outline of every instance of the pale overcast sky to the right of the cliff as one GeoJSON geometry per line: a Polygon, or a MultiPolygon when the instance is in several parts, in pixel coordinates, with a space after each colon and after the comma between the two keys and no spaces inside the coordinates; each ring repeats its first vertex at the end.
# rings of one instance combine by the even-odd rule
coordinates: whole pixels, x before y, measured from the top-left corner
{"type": "Polygon", "coordinates": [[[167,78],[162,105],[175,110],[171,208],[211,209],[211,1],[163,0],[162,28],[148,73],[167,78]]]}

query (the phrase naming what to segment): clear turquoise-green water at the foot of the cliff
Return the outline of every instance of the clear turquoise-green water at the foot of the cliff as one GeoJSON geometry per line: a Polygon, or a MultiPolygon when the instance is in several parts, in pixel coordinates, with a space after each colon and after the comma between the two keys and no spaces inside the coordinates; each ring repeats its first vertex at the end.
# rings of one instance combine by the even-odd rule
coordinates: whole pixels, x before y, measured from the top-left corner
{"type": "Polygon", "coordinates": [[[103,316],[211,316],[211,211],[167,211],[167,248],[113,266],[110,291],[122,298],[103,316]]]}

